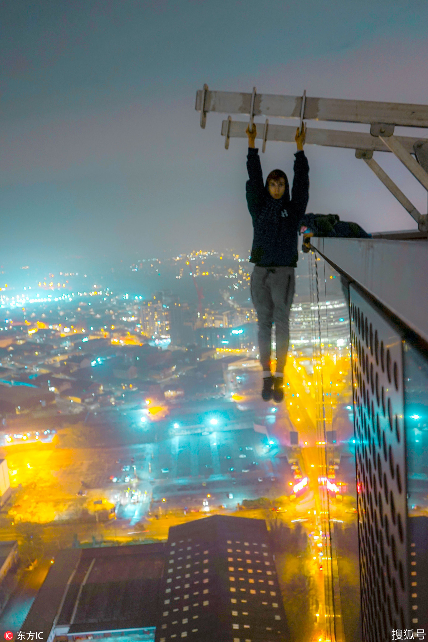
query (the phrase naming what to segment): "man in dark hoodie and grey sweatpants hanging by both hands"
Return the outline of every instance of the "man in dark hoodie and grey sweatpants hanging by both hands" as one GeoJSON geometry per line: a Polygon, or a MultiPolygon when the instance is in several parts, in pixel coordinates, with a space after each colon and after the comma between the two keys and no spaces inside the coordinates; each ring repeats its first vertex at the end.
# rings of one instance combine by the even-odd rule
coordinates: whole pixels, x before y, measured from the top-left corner
{"type": "Polygon", "coordinates": [[[271,171],[263,183],[258,150],[254,147],[256,125],[247,128],[247,205],[253,218],[251,249],[251,297],[258,316],[258,347],[263,367],[262,397],[280,403],[284,398],[283,374],[289,348],[289,315],[294,295],[294,268],[298,261],[298,224],[309,198],[309,165],[303,152],[305,126],[296,132],[298,151],[294,180],[289,193],[287,176],[281,169],[271,171]],[[272,324],[276,334],[276,369],[271,372],[272,324]]]}

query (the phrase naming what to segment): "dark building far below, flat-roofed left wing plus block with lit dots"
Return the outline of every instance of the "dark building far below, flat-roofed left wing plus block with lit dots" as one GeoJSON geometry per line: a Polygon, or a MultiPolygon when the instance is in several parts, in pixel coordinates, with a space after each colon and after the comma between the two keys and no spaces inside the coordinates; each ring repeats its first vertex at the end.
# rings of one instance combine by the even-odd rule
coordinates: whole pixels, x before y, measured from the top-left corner
{"type": "Polygon", "coordinates": [[[58,553],[22,625],[45,640],[287,642],[263,519],[172,526],[166,544],[58,553]]]}

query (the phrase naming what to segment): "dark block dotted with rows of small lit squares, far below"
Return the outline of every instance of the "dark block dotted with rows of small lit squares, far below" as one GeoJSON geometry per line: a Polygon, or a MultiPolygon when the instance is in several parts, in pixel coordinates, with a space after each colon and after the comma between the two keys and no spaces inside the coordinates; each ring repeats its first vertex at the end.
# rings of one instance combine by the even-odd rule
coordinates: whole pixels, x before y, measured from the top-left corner
{"type": "Polygon", "coordinates": [[[156,642],[288,640],[265,521],[215,515],[172,526],[156,642]]]}

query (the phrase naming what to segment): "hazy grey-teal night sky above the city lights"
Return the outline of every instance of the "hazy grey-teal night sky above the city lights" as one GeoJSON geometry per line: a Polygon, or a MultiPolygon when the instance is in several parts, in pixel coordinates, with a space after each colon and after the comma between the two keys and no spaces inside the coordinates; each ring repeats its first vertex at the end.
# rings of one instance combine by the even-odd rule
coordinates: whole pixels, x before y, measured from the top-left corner
{"type": "MultiPolygon", "coordinates": [[[[222,114],[208,114],[201,130],[194,103],[204,82],[428,103],[425,0],[0,7],[2,263],[192,248],[245,254],[246,144],[232,140],[224,150],[222,114]]],[[[268,143],[263,169],[292,175],[294,152],[294,144],[268,143]]],[[[352,150],[305,152],[308,212],[338,213],[368,231],[415,227],[352,150]]],[[[426,213],[426,192],[400,162],[375,157],[426,213]]]]}

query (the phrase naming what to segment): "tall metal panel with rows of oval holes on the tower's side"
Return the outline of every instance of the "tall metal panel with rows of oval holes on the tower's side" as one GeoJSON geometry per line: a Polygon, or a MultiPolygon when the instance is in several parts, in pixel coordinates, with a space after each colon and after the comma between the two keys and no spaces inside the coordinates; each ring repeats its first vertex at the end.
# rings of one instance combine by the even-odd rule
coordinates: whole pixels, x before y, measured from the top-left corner
{"type": "Polygon", "coordinates": [[[364,642],[406,629],[407,505],[402,340],[350,286],[364,642]]]}

